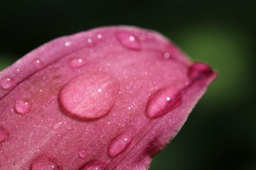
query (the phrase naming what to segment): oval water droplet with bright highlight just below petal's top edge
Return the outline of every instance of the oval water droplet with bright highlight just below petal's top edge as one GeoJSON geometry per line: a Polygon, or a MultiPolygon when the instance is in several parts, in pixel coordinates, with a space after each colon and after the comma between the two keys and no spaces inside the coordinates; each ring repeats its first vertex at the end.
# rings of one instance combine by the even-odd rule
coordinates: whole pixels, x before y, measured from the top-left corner
{"type": "Polygon", "coordinates": [[[132,35],[131,32],[127,32],[127,31],[116,32],[116,37],[118,41],[126,48],[129,48],[131,50],[141,49],[140,42],[135,36],[132,35]]]}

